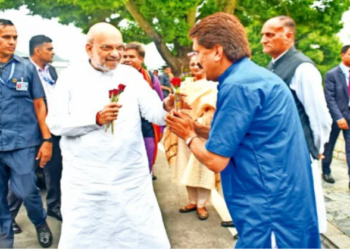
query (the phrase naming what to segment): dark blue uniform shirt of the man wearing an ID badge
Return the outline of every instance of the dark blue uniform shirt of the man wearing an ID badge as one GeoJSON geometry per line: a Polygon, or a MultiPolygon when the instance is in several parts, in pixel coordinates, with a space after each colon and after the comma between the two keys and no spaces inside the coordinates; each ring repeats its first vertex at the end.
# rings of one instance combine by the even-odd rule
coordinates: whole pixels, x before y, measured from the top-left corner
{"type": "Polygon", "coordinates": [[[33,100],[45,96],[34,65],[14,55],[5,65],[0,81],[0,151],[37,146],[41,133],[33,100]],[[14,67],[13,74],[11,69],[14,67]],[[25,91],[16,83],[28,83],[25,91]]]}

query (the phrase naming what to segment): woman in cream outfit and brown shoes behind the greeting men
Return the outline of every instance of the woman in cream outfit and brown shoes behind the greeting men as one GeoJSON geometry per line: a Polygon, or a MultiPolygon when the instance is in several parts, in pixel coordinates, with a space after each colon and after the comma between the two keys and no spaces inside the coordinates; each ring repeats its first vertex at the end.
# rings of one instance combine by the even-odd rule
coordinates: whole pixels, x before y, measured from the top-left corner
{"type": "MultiPolygon", "coordinates": [[[[186,94],[186,101],[191,110],[183,110],[203,125],[210,125],[216,107],[217,83],[207,81],[205,72],[193,56],[190,60],[190,70],[193,77],[188,77],[181,84],[181,93],[186,94]]],[[[169,130],[165,135],[167,159],[173,167],[173,182],[185,185],[188,191],[189,204],[181,207],[181,213],[197,211],[201,220],[209,217],[205,208],[210,199],[211,189],[215,187],[215,173],[210,171],[191,153],[186,142],[169,130]]]]}

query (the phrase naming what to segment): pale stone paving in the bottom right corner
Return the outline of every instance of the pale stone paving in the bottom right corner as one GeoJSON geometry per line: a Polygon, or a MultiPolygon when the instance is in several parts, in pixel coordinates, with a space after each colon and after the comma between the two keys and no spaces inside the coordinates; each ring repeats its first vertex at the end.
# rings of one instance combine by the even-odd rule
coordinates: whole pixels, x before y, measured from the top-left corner
{"type": "Polygon", "coordinates": [[[334,184],[323,181],[328,229],[325,237],[339,248],[350,248],[350,192],[346,162],[333,158],[334,184]]]}

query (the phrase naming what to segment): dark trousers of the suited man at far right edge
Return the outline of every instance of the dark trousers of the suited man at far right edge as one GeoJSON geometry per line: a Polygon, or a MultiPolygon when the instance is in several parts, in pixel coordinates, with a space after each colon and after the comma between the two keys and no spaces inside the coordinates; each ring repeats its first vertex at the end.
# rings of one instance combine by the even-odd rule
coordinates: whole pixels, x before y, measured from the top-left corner
{"type": "MultiPolygon", "coordinates": [[[[348,124],[350,124],[350,120],[347,120],[348,124]]],[[[331,163],[332,163],[332,156],[333,156],[333,150],[334,146],[337,142],[340,128],[338,127],[338,124],[336,122],[333,122],[332,125],[332,132],[329,137],[329,142],[326,144],[324,149],[324,156],[325,159],[322,160],[322,172],[323,174],[330,174],[331,173],[331,163]]],[[[344,135],[344,141],[345,141],[345,152],[346,152],[346,161],[348,163],[348,175],[350,177],[350,130],[343,130],[344,135]]]]}

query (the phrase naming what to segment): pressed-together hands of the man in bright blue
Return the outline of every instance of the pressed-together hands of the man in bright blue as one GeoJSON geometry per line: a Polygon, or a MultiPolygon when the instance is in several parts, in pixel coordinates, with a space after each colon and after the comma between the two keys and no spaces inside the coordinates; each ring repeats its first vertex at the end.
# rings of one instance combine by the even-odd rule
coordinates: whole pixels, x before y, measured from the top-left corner
{"type": "Polygon", "coordinates": [[[187,140],[189,137],[196,136],[195,125],[192,118],[182,113],[173,110],[171,114],[168,114],[165,118],[170,131],[176,134],[183,140],[187,140]]]}

